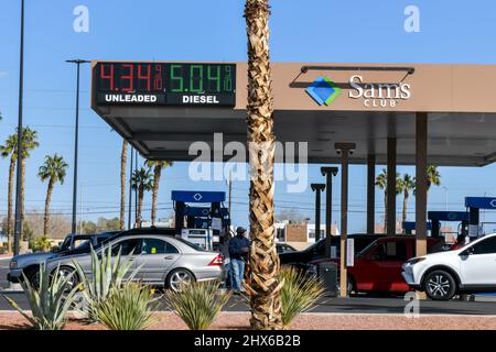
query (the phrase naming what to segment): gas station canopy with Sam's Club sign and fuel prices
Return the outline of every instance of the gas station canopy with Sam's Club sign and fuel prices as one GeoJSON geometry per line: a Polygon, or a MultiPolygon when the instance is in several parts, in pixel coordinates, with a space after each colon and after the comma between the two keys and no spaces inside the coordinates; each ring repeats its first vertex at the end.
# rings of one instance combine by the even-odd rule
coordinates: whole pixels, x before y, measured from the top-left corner
{"type": "MultiPolygon", "coordinates": [[[[246,63],[93,62],[93,109],[150,160],[191,161],[191,143],[246,144],[246,63]]],[[[496,160],[496,66],[272,63],[274,133],[308,142],[309,163],[416,162],[416,113],[428,112],[428,163],[496,160]]],[[[298,148],[296,148],[298,150],[298,148]]],[[[296,154],[298,155],[298,154],[296,154]]],[[[226,156],[229,158],[230,156],[226,156]]]]}

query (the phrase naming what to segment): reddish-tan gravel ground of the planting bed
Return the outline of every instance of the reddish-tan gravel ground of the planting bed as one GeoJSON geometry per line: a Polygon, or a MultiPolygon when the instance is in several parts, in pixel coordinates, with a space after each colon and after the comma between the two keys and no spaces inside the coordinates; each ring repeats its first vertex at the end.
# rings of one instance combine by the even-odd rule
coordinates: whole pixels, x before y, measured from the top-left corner
{"type": "MultiPolygon", "coordinates": [[[[171,312],[158,312],[159,322],[153,330],[184,330],[186,324],[171,312]]],[[[249,314],[222,312],[212,330],[249,329],[249,314]]],[[[29,322],[18,312],[0,312],[0,330],[30,329],[29,322]]],[[[67,330],[100,330],[98,323],[71,320],[67,330]]],[[[298,317],[291,330],[496,330],[496,317],[482,316],[423,316],[406,318],[387,315],[304,314],[298,317]]]]}

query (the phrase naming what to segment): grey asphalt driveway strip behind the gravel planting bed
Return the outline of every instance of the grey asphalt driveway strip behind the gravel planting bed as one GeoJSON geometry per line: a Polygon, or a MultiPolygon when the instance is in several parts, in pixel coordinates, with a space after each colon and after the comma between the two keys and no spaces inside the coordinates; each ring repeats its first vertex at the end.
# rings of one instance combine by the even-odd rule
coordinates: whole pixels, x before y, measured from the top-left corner
{"type": "MultiPolygon", "coordinates": [[[[15,300],[23,309],[29,309],[28,301],[23,293],[7,293],[10,298],[15,300]]],[[[168,310],[163,300],[158,310],[168,310]]],[[[380,314],[380,315],[402,315],[407,301],[402,298],[324,298],[314,308],[312,312],[322,314],[380,314]]],[[[12,310],[7,300],[0,296],[0,310],[12,310]]],[[[248,311],[247,300],[241,296],[233,296],[224,307],[225,311],[248,311]]],[[[496,301],[419,301],[420,315],[482,315],[496,316],[496,301]]]]}

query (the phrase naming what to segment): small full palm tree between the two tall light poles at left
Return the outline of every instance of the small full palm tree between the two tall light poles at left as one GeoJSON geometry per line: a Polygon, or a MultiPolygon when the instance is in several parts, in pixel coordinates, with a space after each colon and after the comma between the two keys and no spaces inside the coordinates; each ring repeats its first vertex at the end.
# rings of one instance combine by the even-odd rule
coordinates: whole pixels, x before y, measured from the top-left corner
{"type": "Polygon", "coordinates": [[[53,187],[57,182],[61,183],[61,185],[64,184],[67,167],[68,165],[62,155],[45,155],[45,162],[40,166],[37,172],[37,177],[40,177],[43,183],[48,182],[45,199],[45,213],[43,217],[43,237],[48,234],[50,201],[52,200],[53,187]]]}

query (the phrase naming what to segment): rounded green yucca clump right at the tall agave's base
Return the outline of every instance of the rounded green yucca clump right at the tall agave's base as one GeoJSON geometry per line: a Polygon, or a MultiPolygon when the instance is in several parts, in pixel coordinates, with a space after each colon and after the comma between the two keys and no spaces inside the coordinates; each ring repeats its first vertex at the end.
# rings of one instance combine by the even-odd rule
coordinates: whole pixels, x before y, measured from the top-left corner
{"type": "Polygon", "coordinates": [[[111,289],[98,305],[95,318],[110,330],[144,330],[155,321],[152,316],[155,300],[149,286],[127,283],[111,289]]]}

